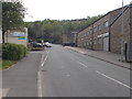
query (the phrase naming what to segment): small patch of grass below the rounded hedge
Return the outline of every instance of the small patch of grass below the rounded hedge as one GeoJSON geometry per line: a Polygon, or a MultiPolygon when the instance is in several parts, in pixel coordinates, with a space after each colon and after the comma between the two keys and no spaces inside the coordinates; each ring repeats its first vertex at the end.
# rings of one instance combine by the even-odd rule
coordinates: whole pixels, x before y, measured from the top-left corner
{"type": "Polygon", "coordinates": [[[0,70],[7,69],[7,68],[11,67],[14,64],[16,64],[15,61],[2,61],[2,62],[0,62],[0,70]]]}

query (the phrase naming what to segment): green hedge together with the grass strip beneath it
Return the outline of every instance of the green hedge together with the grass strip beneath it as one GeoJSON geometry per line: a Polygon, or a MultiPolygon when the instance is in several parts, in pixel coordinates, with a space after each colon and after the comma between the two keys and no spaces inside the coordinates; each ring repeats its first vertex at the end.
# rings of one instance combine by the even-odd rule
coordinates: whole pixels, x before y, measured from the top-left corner
{"type": "Polygon", "coordinates": [[[25,57],[28,48],[21,44],[2,44],[2,62],[0,62],[0,69],[6,69],[15,64],[21,58],[25,57]]]}

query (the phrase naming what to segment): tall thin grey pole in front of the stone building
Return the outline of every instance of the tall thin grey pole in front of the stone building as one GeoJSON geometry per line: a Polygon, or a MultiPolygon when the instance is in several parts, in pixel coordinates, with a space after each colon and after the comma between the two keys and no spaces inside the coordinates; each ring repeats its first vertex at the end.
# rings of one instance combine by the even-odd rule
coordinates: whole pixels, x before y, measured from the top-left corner
{"type": "Polygon", "coordinates": [[[123,18],[124,18],[124,13],[123,13],[123,0],[122,0],[121,58],[120,58],[121,62],[124,61],[123,18]]]}

